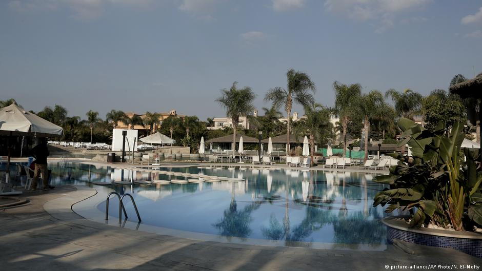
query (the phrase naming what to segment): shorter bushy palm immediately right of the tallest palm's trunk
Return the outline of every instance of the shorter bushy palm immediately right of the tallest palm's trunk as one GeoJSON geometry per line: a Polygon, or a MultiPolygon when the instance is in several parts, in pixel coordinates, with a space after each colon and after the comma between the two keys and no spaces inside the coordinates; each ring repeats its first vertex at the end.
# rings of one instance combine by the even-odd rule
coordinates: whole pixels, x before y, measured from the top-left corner
{"type": "Polygon", "coordinates": [[[311,163],[315,152],[315,141],[321,143],[329,137],[333,131],[333,123],[330,122],[330,111],[320,105],[313,103],[305,107],[306,119],[299,121],[299,125],[294,130],[296,138],[298,135],[307,135],[310,143],[311,163]]]}

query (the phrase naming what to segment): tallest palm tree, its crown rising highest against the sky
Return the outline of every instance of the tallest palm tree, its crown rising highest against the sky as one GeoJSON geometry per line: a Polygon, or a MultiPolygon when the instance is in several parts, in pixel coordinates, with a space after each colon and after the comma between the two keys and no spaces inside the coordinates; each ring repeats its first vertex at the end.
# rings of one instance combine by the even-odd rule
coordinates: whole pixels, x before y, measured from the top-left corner
{"type": "Polygon", "coordinates": [[[311,81],[310,76],[304,72],[295,71],[290,69],[286,73],[287,88],[275,87],[270,89],[266,94],[265,101],[272,101],[273,106],[278,109],[282,105],[285,106],[288,123],[287,123],[287,153],[290,151],[290,133],[291,133],[291,109],[293,102],[302,106],[310,105],[314,102],[313,95],[308,93],[316,90],[315,83],[311,81]]]}

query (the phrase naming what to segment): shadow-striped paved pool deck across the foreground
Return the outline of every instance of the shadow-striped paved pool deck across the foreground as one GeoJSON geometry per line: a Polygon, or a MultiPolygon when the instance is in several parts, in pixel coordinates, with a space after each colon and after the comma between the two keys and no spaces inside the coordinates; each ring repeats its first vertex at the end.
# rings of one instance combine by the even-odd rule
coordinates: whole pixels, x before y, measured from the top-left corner
{"type": "MultiPolygon", "coordinates": [[[[384,252],[249,246],[143,233],[88,221],[70,206],[96,193],[61,186],[0,209],[2,270],[390,270],[385,265],[482,263],[467,254],[408,244],[384,252]],[[48,210],[48,212],[46,212],[48,210]]],[[[356,231],[356,229],[354,229],[356,231]]],[[[441,269],[441,268],[434,268],[441,269]]],[[[414,270],[418,270],[415,268],[414,270]]]]}

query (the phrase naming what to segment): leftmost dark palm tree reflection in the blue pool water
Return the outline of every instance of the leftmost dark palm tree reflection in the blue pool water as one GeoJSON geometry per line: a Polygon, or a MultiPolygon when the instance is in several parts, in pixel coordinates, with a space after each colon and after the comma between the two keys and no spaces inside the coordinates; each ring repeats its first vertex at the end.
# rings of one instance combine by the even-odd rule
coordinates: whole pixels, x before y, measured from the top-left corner
{"type": "Polygon", "coordinates": [[[243,210],[237,210],[237,203],[234,198],[234,182],[231,192],[231,203],[223,213],[223,218],[213,224],[219,230],[219,234],[228,237],[247,238],[252,230],[249,227],[252,221],[251,213],[257,210],[261,204],[259,201],[252,202],[243,210]]]}

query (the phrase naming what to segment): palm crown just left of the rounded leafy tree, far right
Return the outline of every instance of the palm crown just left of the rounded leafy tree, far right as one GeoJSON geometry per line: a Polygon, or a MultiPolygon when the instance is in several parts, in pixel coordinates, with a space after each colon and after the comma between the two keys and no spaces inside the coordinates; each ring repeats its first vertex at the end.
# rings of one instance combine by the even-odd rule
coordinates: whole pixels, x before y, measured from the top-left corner
{"type": "Polygon", "coordinates": [[[385,98],[390,97],[395,103],[395,111],[399,117],[413,119],[413,116],[421,113],[424,96],[411,89],[403,92],[389,89],[385,93],[385,98]]]}

